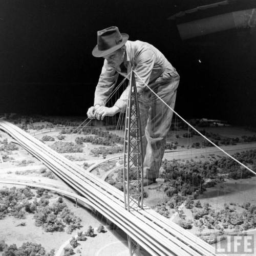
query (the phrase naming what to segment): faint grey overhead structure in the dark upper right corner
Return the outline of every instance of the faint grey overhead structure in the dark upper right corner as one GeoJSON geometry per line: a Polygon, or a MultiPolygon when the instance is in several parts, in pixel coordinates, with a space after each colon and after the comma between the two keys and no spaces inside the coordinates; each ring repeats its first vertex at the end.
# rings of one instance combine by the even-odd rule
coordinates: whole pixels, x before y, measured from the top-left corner
{"type": "Polygon", "coordinates": [[[222,1],[179,12],[175,19],[181,39],[216,33],[228,29],[256,26],[255,1],[222,1]]]}

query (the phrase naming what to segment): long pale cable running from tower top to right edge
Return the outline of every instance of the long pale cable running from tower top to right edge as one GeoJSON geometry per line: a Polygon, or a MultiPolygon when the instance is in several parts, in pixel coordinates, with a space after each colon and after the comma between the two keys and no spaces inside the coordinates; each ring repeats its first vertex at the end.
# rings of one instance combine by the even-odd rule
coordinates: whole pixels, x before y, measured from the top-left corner
{"type": "Polygon", "coordinates": [[[207,141],[209,141],[212,145],[216,146],[220,151],[222,151],[224,154],[226,154],[228,157],[230,157],[231,159],[233,159],[234,161],[236,161],[237,163],[239,163],[240,165],[242,165],[243,167],[245,167],[247,170],[249,170],[251,173],[253,173],[254,175],[256,175],[256,173],[250,169],[248,166],[246,166],[245,164],[241,163],[239,160],[237,160],[236,158],[232,157],[231,155],[229,155],[226,151],[224,151],[221,147],[217,146],[214,142],[212,142],[211,140],[209,140],[207,137],[205,137],[202,133],[200,133],[193,125],[191,125],[189,122],[187,122],[183,117],[181,117],[176,111],[174,111],[167,103],[165,103],[165,101],[163,101],[141,78],[140,76],[133,70],[134,74],[145,84],[145,86],[150,89],[166,106],[168,106],[168,108],[170,110],[172,110],[182,121],[184,121],[187,125],[189,125],[193,130],[195,130],[198,134],[200,134],[204,139],[206,139],[207,141]]]}

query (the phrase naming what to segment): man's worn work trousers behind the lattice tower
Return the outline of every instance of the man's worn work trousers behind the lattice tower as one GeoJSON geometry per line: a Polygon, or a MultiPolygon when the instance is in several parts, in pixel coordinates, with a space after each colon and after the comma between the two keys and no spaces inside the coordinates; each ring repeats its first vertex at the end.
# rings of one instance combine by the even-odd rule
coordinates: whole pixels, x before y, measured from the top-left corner
{"type": "MultiPolygon", "coordinates": [[[[175,70],[166,69],[163,74],[148,86],[172,109],[175,106],[176,91],[180,76],[175,70]]],[[[159,176],[166,145],[166,135],[172,123],[170,110],[150,89],[138,93],[142,133],[142,159],[144,178],[159,176]]]]}

